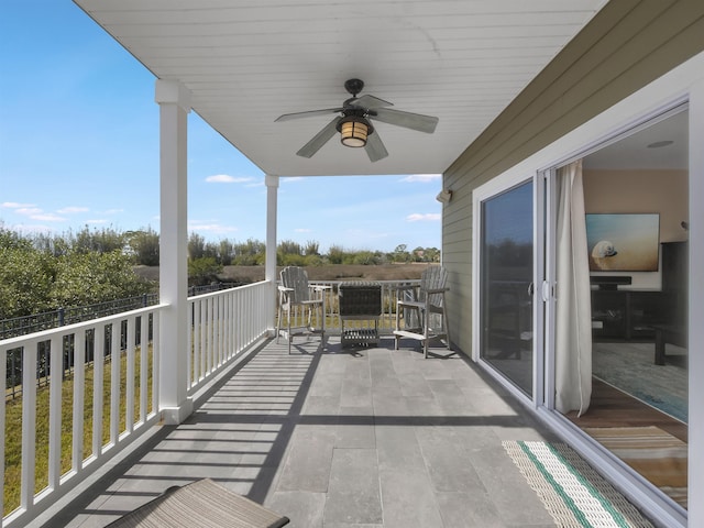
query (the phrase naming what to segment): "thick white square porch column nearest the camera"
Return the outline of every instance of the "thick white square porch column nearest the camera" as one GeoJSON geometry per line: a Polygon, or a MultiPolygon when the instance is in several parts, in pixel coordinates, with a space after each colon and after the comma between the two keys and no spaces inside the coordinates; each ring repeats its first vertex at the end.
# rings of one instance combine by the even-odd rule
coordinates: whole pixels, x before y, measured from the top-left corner
{"type": "Polygon", "coordinates": [[[162,420],[180,424],[193,411],[187,398],[188,227],[186,132],[190,94],[180,82],[156,80],[161,134],[158,400],[162,420]]]}

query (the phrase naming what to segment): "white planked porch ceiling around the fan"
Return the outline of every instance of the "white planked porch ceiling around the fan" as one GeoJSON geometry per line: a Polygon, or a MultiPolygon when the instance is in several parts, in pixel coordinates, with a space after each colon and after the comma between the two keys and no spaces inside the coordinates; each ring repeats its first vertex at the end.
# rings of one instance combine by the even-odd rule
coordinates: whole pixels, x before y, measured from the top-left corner
{"type": "Polygon", "coordinates": [[[74,0],[264,173],[442,173],[606,0],[74,0]],[[388,157],[330,140],[296,156],[334,116],[343,84],[394,109],[437,116],[435,134],[375,123],[388,157]]]}

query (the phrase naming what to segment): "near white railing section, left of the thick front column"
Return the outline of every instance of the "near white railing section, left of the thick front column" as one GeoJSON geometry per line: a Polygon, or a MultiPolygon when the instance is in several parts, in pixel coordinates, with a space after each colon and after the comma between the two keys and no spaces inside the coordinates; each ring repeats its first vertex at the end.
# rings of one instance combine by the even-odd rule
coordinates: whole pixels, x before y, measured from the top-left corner
{"type": "Polygon", "coordinates": [[[22,365],[21,398],[6,387],[0,406],[2,526],[24,525],[155,422],[162,308],[0,341],[2,378],[8,354],[22,365]]]}

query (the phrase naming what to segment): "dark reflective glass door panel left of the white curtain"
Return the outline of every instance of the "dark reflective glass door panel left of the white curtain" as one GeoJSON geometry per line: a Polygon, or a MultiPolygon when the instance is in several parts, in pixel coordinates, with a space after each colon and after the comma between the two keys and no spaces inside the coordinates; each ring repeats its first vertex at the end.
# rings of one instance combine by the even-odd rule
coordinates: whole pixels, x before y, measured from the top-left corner
{"type": "Polygon", "coordinates": [[[534,184],[481,202],[480,356],[534,392],[534,184]]]}

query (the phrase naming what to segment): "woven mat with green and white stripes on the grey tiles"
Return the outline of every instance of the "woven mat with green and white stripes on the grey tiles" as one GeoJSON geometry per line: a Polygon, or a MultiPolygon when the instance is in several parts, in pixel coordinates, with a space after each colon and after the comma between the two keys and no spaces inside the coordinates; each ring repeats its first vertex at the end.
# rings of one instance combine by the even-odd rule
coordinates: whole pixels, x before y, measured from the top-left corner
{"type": "Polygon", "coordinates": [[[652,528],[564,443],[505,441],[504,449],[562,528],[652,528]]]}

